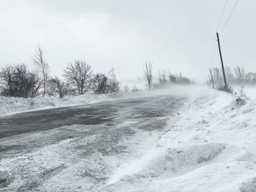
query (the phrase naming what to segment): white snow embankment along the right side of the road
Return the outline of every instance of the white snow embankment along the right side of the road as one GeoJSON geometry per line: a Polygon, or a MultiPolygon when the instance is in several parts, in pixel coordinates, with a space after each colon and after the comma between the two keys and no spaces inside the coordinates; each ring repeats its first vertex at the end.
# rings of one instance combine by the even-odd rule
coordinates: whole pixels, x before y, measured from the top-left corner
{"type": "Polygon", "coordinates": [[[184,112],[170,122],[170,130],[145,155],[149,157],[140,158],[142,166],[132,174],[117,170],[121,177],[114,174],[108,188],[256,191],[256,103],[246,99],[246,104],[237,106],[235,101],[236,96],[210,89],[192,96],[184,112]]]}

